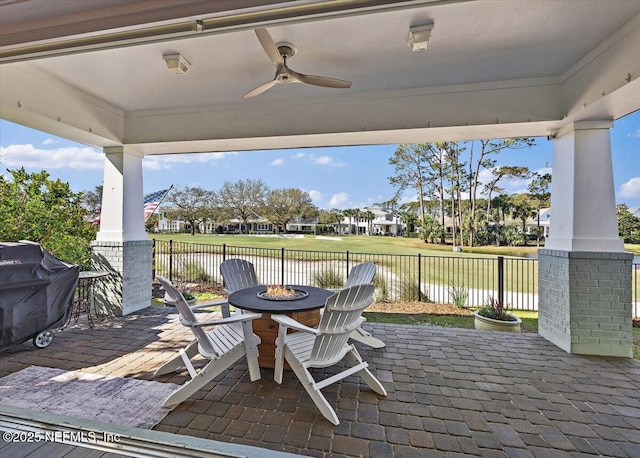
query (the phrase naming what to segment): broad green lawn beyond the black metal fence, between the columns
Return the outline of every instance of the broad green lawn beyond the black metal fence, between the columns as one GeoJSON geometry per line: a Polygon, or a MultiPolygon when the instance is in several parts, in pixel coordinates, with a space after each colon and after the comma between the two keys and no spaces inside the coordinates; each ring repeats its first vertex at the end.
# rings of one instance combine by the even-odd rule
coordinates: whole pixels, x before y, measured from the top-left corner
{"type": "MultiPolygon", "coordinates": [[[[226,244],[227,253],[231,256],[242,254],[251,249],[260,249],[265,250],[263,255],[279,257],[279,250],[285,248],[287,258],[307,261],[326,259],[325,252],[344,254],[348,251],[353,263],[372,261],[379,266],[384,265],[390,275],[396,278],[405,278],[410,283],[417,275],[417,255],[420,254],[423,257],[421,263],[423,282],[481,290],[497,284],[495,278],[495,258],[497,255],[526,256],[534,254],[537,250],[535,247],[478,247],[464,248],[463,252],[457,253],[453,252],[451,246],[427,245],[417,238],[376,236],[288,238],[156,234],[155,238],[164,241],[173,240],[174,253],[192,251],[191,244],[198,243],[217,245],[218,248],[215,250],[218,252],[221,252],[222,245],[226,244]],[[362,256],[358,256],[358,254],[362,254],[362,256]],[[453,262],[453,258],[460,258],[465,262],[453,262]]],[[[165,246],[164,250],[166,249],[165,246]]],[[[538,280],[537,263],[528,260],[513,262],[522,263],[522,266],[516,269],[516,272],[520,272],[520,274],[505,276],[505,290],[535,294],[538,280]]]]}

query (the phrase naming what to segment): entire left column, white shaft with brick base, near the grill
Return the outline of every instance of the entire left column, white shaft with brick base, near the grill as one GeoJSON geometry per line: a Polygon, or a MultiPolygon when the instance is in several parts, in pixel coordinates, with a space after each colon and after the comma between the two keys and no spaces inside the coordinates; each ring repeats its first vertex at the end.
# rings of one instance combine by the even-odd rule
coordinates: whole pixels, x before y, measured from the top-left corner
{"type": "Polygon", "coordinates": [[[92,267],[110,272],[96,284],[96,307],[126,315],[151,304],[151,251],[144,228],[142,155],[105,148],[100,231],[92,242],[92,267]]]}

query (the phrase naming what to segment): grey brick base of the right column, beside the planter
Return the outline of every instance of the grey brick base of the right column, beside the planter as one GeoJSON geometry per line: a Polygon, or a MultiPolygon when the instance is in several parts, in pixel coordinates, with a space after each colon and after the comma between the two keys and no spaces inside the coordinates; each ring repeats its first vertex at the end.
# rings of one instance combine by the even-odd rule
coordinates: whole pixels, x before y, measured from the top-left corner
{"type": "Polygon", "coordinates": [[[628,253],[538,252],[538,333],[569,353],[633,356],[628,253]]]}

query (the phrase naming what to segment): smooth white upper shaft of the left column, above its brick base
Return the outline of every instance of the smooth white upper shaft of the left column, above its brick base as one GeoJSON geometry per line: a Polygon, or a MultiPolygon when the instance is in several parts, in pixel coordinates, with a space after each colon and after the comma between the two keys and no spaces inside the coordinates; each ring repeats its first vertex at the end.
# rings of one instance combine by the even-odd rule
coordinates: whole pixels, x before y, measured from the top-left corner
{"type": "Polygon", "coordinates": [[[104,183],[98,241],[147,240],[144,227],[142,158],[125,147],[104,149],[104,183]]]}

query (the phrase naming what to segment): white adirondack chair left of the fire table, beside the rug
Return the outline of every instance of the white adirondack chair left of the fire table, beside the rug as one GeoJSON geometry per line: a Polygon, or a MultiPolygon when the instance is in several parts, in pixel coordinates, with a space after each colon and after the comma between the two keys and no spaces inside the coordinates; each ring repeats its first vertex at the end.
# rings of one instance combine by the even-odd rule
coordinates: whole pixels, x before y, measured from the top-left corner
{"type": "Polygon", "coordinates": [[[243,313],[217,320],[198,321],[193,312],[201,308],[202,305],[189,307],[182,293],[169,280],[161,276],[157,278],[166,293],[172,300],[175,300],[176,308],[180,314],[180,322],[190,328],[195,336],[187,348],[181,349],[175,357],[163,364],[154,374],[154,376],[169,374],[179,368],[186,367],[191,376],[191,380],[164,401],[164,407],[180,404],[244,356],[247,357],[251,381],[260,380],[258,365],[260,338],[253,333],[251,320],[260,318],[261,314],[243,313]],[[205,328],[211,329],[205,330],[205,328]],[[191,358],[198,354],[208,359],[209,362],[205,367],[196,371],[191,363],[191,358]]]}

